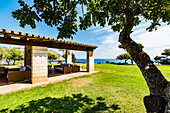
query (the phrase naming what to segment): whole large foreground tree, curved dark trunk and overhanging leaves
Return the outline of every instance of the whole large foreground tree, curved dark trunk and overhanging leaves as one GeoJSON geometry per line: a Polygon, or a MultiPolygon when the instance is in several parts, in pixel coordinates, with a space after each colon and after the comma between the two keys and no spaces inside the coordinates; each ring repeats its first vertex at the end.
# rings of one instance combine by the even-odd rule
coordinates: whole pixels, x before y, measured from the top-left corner
{"type": "Polygon", "coordinates": [[[12,12],[12,16],[19,20],[21,27],[35,28],[36,21],[44,21],[57,28],[58,38],[73,38],[78,28],[86,30],[97,24],[109,25],[113,31],[120,32],[119,42],[136,62],[149,87],[150,96],[144,98],[147,112],[168,112],[169,81],[130,34],[142,20],[151,23],[146,28],[148,31],[157,30],[161,23],[170,24],[169,0],[34,0],[32,6],[22,0],[18,2],[21,8],[12,12]],[[82,15],[78,15],[78,5],[82,15]]]}

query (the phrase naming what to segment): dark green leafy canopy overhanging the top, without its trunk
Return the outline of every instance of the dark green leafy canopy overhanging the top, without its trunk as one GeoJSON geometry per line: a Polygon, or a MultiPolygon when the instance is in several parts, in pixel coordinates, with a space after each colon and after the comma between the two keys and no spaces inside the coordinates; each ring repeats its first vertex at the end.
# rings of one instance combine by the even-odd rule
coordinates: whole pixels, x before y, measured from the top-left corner
{"type": "Polygon", "coordinates": [[[35,28],[36,21],[44,21],[57,28],[58,38],[73,38],[78,28],[86,30],[97,24],[110,25],[113,31],[119,32],[125,27],[126,16],[131,11],[132,26],[144,18],[151,22],[148,31],[157,29],[161,22],[170,23],[169,0],[34,0],[32,6],[23,0],[18,3],[21,8],[13,11],[12,16],[19,20],[21,27],[35,28]],[[80,9],[77,7],[81,7],[82,15],[78,15],[80,9]]]}

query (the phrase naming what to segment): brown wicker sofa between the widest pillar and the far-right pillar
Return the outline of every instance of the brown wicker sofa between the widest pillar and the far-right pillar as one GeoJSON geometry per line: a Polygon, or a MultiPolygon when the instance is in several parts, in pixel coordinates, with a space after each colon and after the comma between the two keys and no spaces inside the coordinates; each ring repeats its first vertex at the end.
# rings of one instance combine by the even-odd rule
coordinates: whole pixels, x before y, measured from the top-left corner
{"type": "Polygon", "coordinates": [[[60,72],[60,73],[63,73],[63,74],[79,72],[80,66],[74,65],[74,64],[60,64],[60,65],[54,66],[54,71],[60,72]]]}

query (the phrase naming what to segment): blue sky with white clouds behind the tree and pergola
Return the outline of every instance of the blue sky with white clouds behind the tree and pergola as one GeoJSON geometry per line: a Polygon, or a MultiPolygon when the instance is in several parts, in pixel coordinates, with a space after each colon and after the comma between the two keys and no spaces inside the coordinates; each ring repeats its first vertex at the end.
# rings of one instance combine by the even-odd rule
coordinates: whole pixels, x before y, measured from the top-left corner
{"type": "MultiPolygon", "coordinates": [[[[21,28],[19,22],[15,20],[11,12],[20,8],[18,0],[0,0],[0,29],[6,29],[7,31],[14,30],[15,32],[23,32],[29,34],[35,34],[40,36],[46,36],[50,38],[57,37],[56,28],[51,28],[45,25],[43,22],[37,23],[36,29],[31,29],[30,26],[21,28]]],[[[26,3],[31,3],[32,0],[25,0],[26,3]]],[[[132,39],[137,43],[144,45],[144,51],[146,51],[151,58],[156,55],[160,55],[161,52],[170,48],[170,26],[162,25],[157,31],[146,32],[145,28],[149,26],[149,22],[141,22],[141,24],[133,29],[131,35],[132,39]]],[[[84,43],[89,45],[98,46],[95,50],[95,58],[102,59],[114,59],[119,54],[125,53],[124,50],[118,48],[118,32],[113,32],[110,26],[105,27],[91,27],[86,31],[78,31],[77,35],[74,35],[72,42],[84,43]]],[[[0,46],[12,46],[2,45],[0,46]]],[[[12,46],[13,47],[13,46],[12,46]]],[[[16,46],[15,46],[16,47],[16,46]]],[[[54,51],[62,54],[58,49],[54,51]]],[[[73,51],[77,58],[86,58],[86,52],[73,51]]]]}

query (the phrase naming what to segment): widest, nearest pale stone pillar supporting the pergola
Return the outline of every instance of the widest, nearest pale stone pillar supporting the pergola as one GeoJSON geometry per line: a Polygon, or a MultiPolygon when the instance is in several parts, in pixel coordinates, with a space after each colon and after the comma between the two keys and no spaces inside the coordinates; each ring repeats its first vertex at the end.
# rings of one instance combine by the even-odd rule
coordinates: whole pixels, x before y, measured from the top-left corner
{"type": "Polygon", "coordinates": [[[31,66],[32,84],[46,82],[47,70],[47,47],[25,46],[25,66],[31,66]]]}

